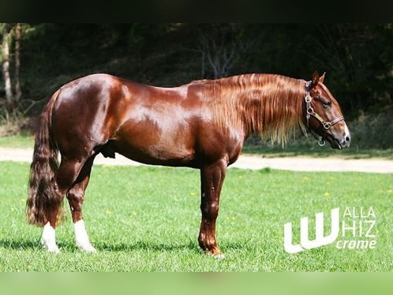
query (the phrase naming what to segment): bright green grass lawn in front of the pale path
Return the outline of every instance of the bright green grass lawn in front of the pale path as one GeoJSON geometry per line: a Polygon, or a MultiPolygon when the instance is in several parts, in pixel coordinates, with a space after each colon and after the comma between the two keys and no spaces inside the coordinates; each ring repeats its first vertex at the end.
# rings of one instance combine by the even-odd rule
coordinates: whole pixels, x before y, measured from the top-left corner
{"type": "MultiPolygon", "coordinates": [[[[391,271],[393,175],[229,169],[217,237],[223,260],[203,254],[199,171],[94,166],[84,206],[99,251],[74,244],[72,222],[57,227],[62,253],[39,245],[41,228],[24,217],[27,163],[0,162],[0,271],[391,271]],[[283,247],[283,226],[333,208],[372,206],[375,249],[330,244],[297,254],[283,247]]],[[[295,238],[299,235],[294,232],[295,238]]]]}

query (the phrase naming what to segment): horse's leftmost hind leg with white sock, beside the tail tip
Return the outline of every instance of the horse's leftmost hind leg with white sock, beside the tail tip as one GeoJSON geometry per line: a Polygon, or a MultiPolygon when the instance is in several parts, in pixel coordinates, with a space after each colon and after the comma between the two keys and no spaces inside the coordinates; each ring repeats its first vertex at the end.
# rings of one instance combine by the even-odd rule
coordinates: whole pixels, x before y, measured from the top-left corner
{"type": "Polygon", "coordinates": [[[64,195],[72,187],[72,184],[80,173],[83,164],[84,162],[81,161],[62,159],[60,167],[57,170],[55,176],[55,197],[50,206],[48,206],[48,210],[46,212],[46,219],[48,222],[45,224],[41,236],[41,244],[47,248],[49,252],[60,252],[60,249],[57,247],[55,237],[57,217],[59,213],[62,215],[62,201],[64,195]]]}

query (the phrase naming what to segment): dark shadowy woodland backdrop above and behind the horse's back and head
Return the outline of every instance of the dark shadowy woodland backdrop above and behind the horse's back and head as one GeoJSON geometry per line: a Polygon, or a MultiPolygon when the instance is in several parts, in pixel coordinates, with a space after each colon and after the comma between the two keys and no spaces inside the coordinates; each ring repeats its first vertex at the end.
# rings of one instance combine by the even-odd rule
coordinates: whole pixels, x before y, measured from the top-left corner
{"type": "MultiPolygon", "coordinates": [[[[208,53],[221,65],[233,53],[220,75],[269,72],[307,80],[315,70],[326,71],[325,84],[340,102],[347,121],[356,126],[353,138],[367,139],[358,144],[392,147],[390,23],[30,23],[23,24],[23,32],[19,109],[30,117],[41,112],[58,87],[93,72],[174,86],[215,78],[208,53]]],[[[0,108],[4,101],[1,79],[0,108]]]]}

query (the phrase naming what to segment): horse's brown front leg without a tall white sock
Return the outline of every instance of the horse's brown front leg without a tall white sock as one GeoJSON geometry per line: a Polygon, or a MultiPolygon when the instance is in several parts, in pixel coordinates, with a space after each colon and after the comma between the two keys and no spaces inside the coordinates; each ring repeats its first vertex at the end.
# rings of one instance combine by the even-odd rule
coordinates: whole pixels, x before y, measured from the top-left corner
{"type": "Polygon", "coordinates": [[[201,229],[199,246],[206,253],[222,258],[215,238],[215,220],[219,214],[220,193],[227,169],[227,162],[221,159],[201,168],[201,229]]]}

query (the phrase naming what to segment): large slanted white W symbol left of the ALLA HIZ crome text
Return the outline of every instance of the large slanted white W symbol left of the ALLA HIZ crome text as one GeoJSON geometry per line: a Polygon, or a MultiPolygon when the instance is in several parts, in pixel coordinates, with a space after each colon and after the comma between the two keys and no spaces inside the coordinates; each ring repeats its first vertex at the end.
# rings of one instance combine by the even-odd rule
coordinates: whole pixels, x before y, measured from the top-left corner
{"type": "Polygon", "coordinates": [[[328,236],[323,234],[323,212],[315,214],[315,239],[308,239],[308,217],[300,219],[300,244],[292,244],[292,223],[284,225],[284,249],[288,253],[298,253],[336,241],[340,231],[339,208],[331,210],[331,230],[328,236]]]}

